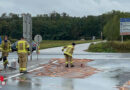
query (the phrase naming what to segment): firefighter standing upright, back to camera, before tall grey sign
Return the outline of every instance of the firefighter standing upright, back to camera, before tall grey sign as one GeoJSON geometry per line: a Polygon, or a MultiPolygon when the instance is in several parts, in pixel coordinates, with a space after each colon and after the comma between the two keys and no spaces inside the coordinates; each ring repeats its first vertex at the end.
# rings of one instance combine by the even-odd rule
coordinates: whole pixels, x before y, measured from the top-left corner
{"type": "Polygon", "coordinates": [[[24,38],[21,38],[21,40],[17,42],[16,48],[18,52],[20,73],[27,73],[27,58],[29,52],[29,44],[24,38]]]}

